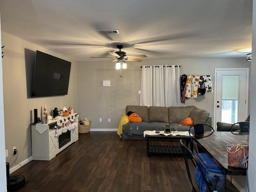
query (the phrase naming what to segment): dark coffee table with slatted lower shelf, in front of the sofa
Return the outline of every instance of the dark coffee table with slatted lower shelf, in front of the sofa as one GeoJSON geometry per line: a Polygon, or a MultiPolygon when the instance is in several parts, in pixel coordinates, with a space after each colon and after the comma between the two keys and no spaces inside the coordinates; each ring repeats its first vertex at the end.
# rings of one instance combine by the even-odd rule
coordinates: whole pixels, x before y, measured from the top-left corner
{"type": "Polygon", "coordinates": [[[191,139],[189,136],[184,135],[146,135],[147,138],[147,153],[148,156],[151,155],[169,155],[169,154],[183,154],[182,148],[180,145],[178,146],[170,146],[170,145],[156,145],[150,144],[150,140],[186,140],[186,146],[190,143],[190,148],[192,147],[191,139]]]}

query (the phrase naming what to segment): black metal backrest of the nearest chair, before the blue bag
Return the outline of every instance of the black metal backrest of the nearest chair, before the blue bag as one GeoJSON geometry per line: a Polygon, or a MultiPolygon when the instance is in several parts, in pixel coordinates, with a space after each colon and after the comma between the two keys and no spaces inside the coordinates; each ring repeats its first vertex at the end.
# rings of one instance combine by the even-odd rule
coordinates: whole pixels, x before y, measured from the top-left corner
{"type": "MultiPolygon", "coordinates": [[[[197,158],[194,156],[194,154],[192,153],[192,151],[190,151],[190,149],[182,142],[182,139],[180,140],[180,144],[182,147],[182,152],[183,152],[183,157],[184,157],[184,161],[186,164],[186,170],[187,170],[187,174],[188,174],[188,179],[192,185],[192,192],[200,192],[200,189],[198,187],[198,185],[196,184],[195,180],[194,180],[194,175],[193,175],[193,180],[191,177],[191,172],[195,172],[196,169],[196,165],[199,164],[197,158]],[[194,165],[192,169],[190,169],[189,163],[188,163],[188,158],[192,161],[192,164],[194,165]]],[[[198,166],[198,169],[200,170],[201,174],[202,174],[202,178],[206,183],[206,186],[208,188],[209,191],[212,191],[210,186],[211,184],[208,182],[208,180],[206,179],[206,177],[204,176],[204,172],[202,170],[202,168],[200,166],[198,166]]]]}

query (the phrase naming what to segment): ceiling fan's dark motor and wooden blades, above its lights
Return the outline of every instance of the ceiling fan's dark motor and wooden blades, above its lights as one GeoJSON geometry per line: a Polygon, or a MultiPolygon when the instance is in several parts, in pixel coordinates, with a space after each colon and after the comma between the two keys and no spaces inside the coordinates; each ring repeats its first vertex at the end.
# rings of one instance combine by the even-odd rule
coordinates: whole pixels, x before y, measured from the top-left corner
{"type": "Polygon", "coordinates": [[[141,62],[142,60],[139,60],[137,58],[144,58],[147,57],[146,55],[130,55],[127,56],[126,52],[121,51],[121,49],[124,47],[123,45],[116,45],[116,47],[119,49],[119,51],[116,52],[108,52],[109,54],[111,54],[114,57],[91,57],[91,58],[112,58],[114,59],[113,61],[132,61],[132,62],[141,62]]]}

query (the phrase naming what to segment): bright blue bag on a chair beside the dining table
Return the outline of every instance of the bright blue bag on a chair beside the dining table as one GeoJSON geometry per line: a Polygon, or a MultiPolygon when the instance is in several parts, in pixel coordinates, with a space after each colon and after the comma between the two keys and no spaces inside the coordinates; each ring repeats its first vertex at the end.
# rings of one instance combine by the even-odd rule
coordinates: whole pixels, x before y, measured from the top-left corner
{"type": "Polygon", "coordinates": [[[199,165],[196,166],[195,179],[201,191],[209,192],[198,166],[202,168],[206,180],[209,181],[211,191],[225,192],[226,174],[206,153],[198,153],[197,156],[199,165]]]}

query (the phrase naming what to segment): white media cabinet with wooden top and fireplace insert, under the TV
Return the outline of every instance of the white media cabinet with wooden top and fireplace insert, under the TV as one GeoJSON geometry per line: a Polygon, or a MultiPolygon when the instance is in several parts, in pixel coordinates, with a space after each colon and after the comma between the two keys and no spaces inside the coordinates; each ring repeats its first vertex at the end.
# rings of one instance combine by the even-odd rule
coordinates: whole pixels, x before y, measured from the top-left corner
{"type": "MultiPolygon", "coordinates": [[[[79,114],[72,114],[68,118],[72,116],[75,116],[78,122],[79,114]]],[[[63,117],[62,119],[64,118],[67,117],[63,117]]],[[[39,123],[37,126],[36,124],[31,124],[33,160],[51,160],[56,154],[78,140],[77,126],[70,130],[70,141],[59,148],[59,140],[56,136],[56,128],[54,128],[57,121],[58,120],[52,120],[48,124],[39,123]]]]}

